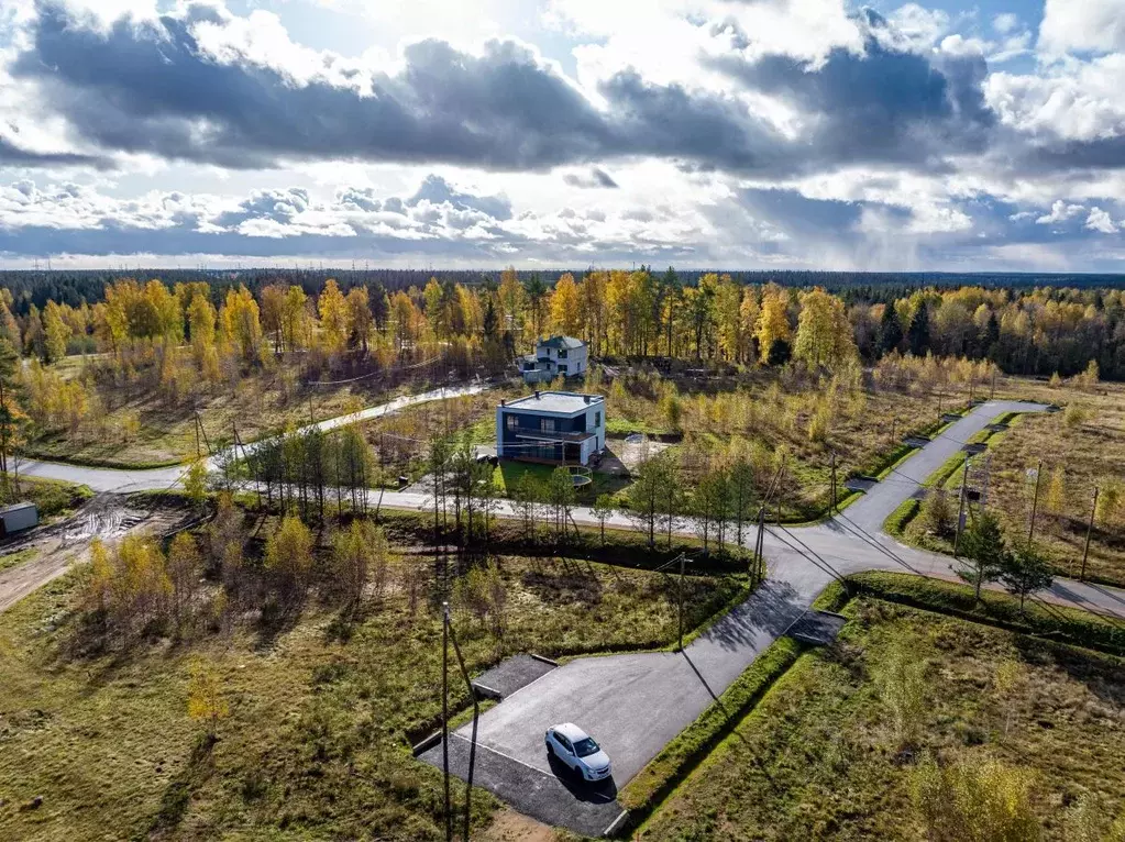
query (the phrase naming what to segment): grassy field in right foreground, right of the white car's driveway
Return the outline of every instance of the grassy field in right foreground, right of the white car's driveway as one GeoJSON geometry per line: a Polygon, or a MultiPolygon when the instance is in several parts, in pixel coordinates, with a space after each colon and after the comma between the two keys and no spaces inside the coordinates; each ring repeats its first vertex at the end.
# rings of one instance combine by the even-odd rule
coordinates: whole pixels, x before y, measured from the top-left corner
{"type": "Polygon", "coordinates": [[[844,613],[838,642],[801,655],[640,839],[926,839],[925,755],[1029,772],[1044,839],[1100,840],[1077,835],[1078,805],[1102,833],[1125,813],[1120,659],[870,597],[844,613]],[[907,753],[880,683],[903,651],[924,664],[907,753]]]}

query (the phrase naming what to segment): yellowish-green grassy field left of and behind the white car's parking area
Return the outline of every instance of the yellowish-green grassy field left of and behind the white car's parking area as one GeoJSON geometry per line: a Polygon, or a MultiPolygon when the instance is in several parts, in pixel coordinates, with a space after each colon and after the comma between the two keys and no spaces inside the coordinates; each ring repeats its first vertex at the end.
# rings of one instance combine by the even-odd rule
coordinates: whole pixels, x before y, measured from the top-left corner
{"type": "MultiPolygon", "coordinates": [[[[393,582],[430,562],[407,556],[393,582]]],[[[662,645],[676,633],[660,576],[568,560],[503,558],[506,630],[459,608],[471,671],[516,651],[547,655],[662,645]]],[[[291,628],[252,626],[97,659],[68,654],[78,574],[0,615],[0,839],[435,840],[440,773],[410,752],[440,715],[438,612],[402,585],[339,633],[306,607],[291,628]],[[213,659],[230,705],[214,744],[187,715],[188,669],[213,659]],[[42,803],[35,806],[35,799],[42,803]]],[[[695,578],[690,623],[737,587],[695,578]]],[[[464,707],[465,689],[453,691],[464,707]]],[[[458,793],[462,791],[460,788],[458,793]]],[[[496,802],[474,798],[484,827],[496,802]]]]}

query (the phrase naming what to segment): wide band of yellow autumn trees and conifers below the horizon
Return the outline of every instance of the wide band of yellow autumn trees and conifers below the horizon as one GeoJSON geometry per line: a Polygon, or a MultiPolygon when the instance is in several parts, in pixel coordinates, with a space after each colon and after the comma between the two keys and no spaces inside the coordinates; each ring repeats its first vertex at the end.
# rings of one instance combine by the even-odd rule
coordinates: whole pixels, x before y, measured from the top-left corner
{"type": "Polygon", "coordinates": [[[26,311],[0,289],[0,455],[20,438],[88,427],[126,391],[172,408],[236,393],[259,373],[285,395],[422,365],[464,378],[503,371],[556,332],[586,341],[594,357],[657,365],[798,366],[816,377],[934,356],[1125,379],[1122,290],[922,287],[872,302],[858,288],[837,296],[716,273],[692,283],[672,269],[564,273],[552,284],[514,270],[498,283],[476,280],[392,289],[328,279],[310,295],[284,282],[120,279],[91,300],[64,296],[26,311]],[[56,370],[75,354],[81,377],[56,370]]]}

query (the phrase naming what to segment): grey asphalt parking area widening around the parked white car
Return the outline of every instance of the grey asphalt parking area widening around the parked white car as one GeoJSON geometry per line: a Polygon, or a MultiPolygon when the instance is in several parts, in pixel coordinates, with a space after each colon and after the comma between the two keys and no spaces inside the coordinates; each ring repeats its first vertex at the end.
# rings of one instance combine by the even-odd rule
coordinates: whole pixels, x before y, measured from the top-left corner
{"type": "MultiPolygon", "coordinates": [[[[788,583],[767,581],[684,652],[579,658],[548,670],[482,716],[474,784],[541,822],[601,835],[621,814],[618,788],[806,613],[806,599],[788,583]],[[582,727],[610,755],[610,780],[578,781],[548,758],[544,733],[564,722],[582,727]]],[[[516,668],[521,676],[528,674],[519,661],[512,664],[516,668]]],[[[500,678],[494,674],[489,680],[500,678]]],[[[471,733],[468,723],[450,740],[450,771],[462,779],[468,775],[471,733]]],[[[441,744],[418,757],[441,768],[441,744]]]]}

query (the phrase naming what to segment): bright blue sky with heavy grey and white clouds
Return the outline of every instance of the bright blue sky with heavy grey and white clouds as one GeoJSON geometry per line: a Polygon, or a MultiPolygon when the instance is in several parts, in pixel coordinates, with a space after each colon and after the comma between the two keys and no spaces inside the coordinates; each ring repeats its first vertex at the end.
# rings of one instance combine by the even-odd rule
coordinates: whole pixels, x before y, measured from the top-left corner
{"type": "Polygon", "coordinates": [[[0,269],[1125,269],[1125,0],[3,0],[0,269]]]}

